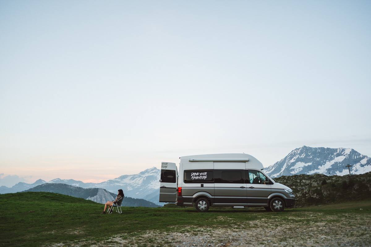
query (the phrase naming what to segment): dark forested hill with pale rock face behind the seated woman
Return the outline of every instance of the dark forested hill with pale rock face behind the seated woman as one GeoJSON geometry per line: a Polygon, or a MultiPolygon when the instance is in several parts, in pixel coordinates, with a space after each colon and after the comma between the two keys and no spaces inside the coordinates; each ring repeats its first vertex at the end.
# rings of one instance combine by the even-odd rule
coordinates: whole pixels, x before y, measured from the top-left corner
{"type": "MultiPolygon", "coordinates": [[[[28,191],[42,191],[42,192],[52,192],[63,194],[67,196],[79,197],[84,198],[86,200],[92,200],[97,203],[106,203],[106,201],[115,200],[116,194],[111,193],[102,188],[81,188],[76,187],[68,184],[56,184],[56,183],[44,183],[40,184],[39,186],[30,188],[28,191]]],[[[125,207],[159,207],[150,201],[146,201],[144,199],[136,199],[131,197],[124,197],[122,201],[122,206],[125,207]]]]}

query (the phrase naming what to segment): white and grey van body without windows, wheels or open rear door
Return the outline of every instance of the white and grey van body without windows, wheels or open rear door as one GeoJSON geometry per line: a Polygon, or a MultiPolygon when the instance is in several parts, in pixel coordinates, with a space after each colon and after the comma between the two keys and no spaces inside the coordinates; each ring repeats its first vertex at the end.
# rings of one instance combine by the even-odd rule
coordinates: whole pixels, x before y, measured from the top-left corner
{"type": "Polygon", "coordinates": [[[286,191],[290,189],[289,187],[275,183],[262,169],[262,163],[249,154],[203,154],[180,157],[177,187],[181,187],[181,196],[177,204],[192,206],[194,198],[199,196],[210,198],[211,206],[266,207],[273,196],[295,201],[295,196],[286,191]],[[206,170],[205,172],[214,170],[211,173],[214,176],[212,181],[205,180],[204,183],[200,180],[191,181],[188,177],[189,173],[185,173],[185,171],[202,172],[203,170],[206,170]],[[221,175],[218,175],[216,170],[243,170],[244,181],[233,183],[221,180],[219,177],[221,175]],[[259,171],[273,184],[253,184],[247,170],[259,171]],[[186,174],[188,180],[184,178],[186,174]]]}

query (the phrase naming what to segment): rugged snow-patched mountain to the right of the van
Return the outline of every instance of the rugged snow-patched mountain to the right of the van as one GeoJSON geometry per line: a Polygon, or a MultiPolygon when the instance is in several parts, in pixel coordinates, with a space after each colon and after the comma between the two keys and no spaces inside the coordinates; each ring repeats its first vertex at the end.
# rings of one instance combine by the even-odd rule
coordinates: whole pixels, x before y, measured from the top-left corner
{"type": "Polygon", "coordinates": [[[324,148],[302,146],[292,150],[285,158],[264,171],[272,178],[295,174],[346,175],[347,164],[352,174],[371,171],[371,158],[352,148],[324,148]]]}

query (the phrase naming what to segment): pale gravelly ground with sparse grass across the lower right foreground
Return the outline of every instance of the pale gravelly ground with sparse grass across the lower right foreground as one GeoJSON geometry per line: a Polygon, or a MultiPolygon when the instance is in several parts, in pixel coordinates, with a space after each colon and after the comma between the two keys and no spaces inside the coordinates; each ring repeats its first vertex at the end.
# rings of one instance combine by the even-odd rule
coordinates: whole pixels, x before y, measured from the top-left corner
{"type": "MultiPolygon", "coordinates": [[[[217,217],[216,221],[233,221],[217,217]]],[[[369,214],[290,214],[281,220],[259,219],[236,223],[231,228],[175,227],[170,231],[121,234],[105,241],[86,241],[72,246],[371,246],[369,214]],[[312,218],[313,221],[308,221],[312,218]]],[[[63,246],[63,245],[56,245],[63,246]]]]}

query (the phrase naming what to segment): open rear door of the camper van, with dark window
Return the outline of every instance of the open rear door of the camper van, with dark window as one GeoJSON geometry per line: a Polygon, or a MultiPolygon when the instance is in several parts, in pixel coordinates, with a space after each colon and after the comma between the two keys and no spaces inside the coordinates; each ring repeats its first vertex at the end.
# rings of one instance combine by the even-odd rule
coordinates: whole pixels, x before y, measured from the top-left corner
{"type": "Polygon", "coordinates": [[[161,203],[177,201],[178,169],[175,163],[161,163],[160,199],[161,203]]]}

